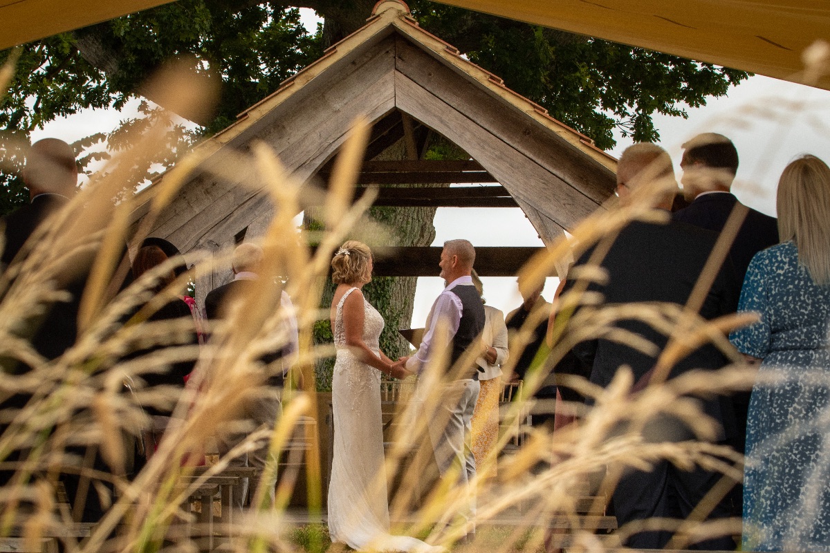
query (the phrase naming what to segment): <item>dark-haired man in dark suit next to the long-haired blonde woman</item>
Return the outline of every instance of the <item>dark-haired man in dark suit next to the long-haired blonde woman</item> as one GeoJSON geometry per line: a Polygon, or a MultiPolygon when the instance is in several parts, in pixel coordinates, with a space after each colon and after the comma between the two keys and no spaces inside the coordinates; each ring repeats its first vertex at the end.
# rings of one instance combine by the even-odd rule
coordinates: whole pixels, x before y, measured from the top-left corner
{"type": "Polygon", "coordinates": [[[732,194],[732,182],[738,171],[738,151],[729,138],[716,133],[699,134],[683,144],[683,148],[681,184],[683,196],[691,204],[676,211],[673,217],[676,221],[720,233],[733,211],[745,211],[744,221],[730,247],[735,272],[743,284],[753,256],[779,243],[778,221],[744,206],[732,194]]]}

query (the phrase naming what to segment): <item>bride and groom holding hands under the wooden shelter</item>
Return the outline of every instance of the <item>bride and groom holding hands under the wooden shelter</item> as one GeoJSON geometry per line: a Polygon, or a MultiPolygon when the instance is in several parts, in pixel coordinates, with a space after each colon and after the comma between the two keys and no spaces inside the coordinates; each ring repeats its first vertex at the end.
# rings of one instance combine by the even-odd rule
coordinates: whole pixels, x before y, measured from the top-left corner
{"type": "MultiPolygon", "coordinates": [[[[473,286],[471,272],[476,250],[467,240],[449,240],[441,253],[441,278],[447,287],[432,304],[422,342],[412,357],[393,361],[380,351],[383,317],[363,296],[372,280],[369,246],[348,241],[331,262],[332,281],[337,284],[330,319],[337,357],[332,380],[334,410],[334,459],[329,487],[329,532],[331,541],[356,550],[417,551],[437,553],[440,546],[409,536],[389,534],[387,480],[383,457],[381,420],[381,373],[395,378],[421,375],[427,366],[446,359],[447,366],[464,358],[476,347],[485,325],[481,296],[473,286]],[[442,347],[445,351],[439,351],[442,347]]],[[[430,419],[429,435],[442,477],[457,468],[459,489],[466,494],[461,513],[466,521],[475,515],[470,482],[476,474],[471,452],[471,417],[480,386],[474,362],[441,384],[441,390],[421,390],[440,396],[436,416],[430,419]]],[[[419,386],[422,386],[419,381],[419,386]]],[[[468,526],[472,531],[474,526],[468,526]]]]}

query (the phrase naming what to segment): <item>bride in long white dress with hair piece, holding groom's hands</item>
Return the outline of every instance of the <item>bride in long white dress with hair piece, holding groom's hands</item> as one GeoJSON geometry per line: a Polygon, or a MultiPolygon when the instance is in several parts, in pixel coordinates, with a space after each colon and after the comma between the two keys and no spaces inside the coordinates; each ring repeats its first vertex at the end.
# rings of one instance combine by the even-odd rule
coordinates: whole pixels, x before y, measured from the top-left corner
{"type": "Polygon", "coordinates": [[[361,291],[372,280],[369,246],[349,240],[337,250],[331,267],[331,279],[338,285],[330,313],[337,348],[332,381],[331,541],[356,550],[444,551],[413,537],[389,535],[380,373],[395,378],[411,373],[403,363],[386,357],[378,346],[383,318],[361,291]]]}

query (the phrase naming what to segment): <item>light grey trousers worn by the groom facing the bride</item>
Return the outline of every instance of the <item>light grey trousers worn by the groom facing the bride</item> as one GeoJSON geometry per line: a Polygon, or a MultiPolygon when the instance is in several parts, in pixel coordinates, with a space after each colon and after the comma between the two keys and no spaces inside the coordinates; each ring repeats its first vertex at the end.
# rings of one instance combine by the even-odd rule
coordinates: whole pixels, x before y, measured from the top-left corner
{"type": "Polygon", "coordinates": [[[430,424],[429,437],[435,462],[442,478],[456,466],[459,468],[458,483],[462,492],[469,493],[469,502],[461,515],[466,520],[476,516],[476,497],[469,483],[476,476],[476,458],[472,454],[472,413],[476,410],[479,381],[465,379],[452,381],[442,390],[442,401],[436,420],[447,424],[430,424]]]}

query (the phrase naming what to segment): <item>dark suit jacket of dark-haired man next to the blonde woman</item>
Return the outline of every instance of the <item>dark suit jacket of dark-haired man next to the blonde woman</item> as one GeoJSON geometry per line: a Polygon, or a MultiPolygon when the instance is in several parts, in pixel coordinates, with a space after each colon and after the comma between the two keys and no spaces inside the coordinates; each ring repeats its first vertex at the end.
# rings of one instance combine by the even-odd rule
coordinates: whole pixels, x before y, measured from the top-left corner
{"type": "MultiPolygon", "coordinates": [[[[699,226],[701,229],[720,233],[738,203],[740,203],[738,198],[728,192],[705,194],[697,196],[695,201],[692,201],[691,205],[685,209],[676,211],[672,218],[675,221],[683,221],[699,226]]],[[[778,243],[778,220],[760,211],[749,209],[730,248],[730,257],[732,263],[735,264],[735,274],[740,284],[744,283],[746,269],[753,256],[760,250],[778,243]]]]}

